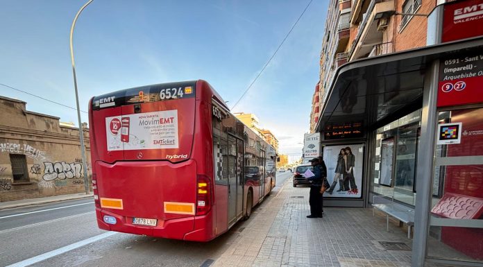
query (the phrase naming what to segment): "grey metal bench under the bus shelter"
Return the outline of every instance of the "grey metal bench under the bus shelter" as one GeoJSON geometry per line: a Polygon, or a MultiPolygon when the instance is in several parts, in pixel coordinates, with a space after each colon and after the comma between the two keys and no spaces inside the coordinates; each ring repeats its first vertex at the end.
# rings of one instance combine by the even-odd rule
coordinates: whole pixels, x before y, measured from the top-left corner
{"type": "Polygon", "coordinates": [[[389,216],[407,224],[407,238],[411,239],[411,228],[414,227],[414,209],[394,202],[393,196],[373,196],[373,216],[374,210],[386,214],[386,230],[389,232],[389,216]]]}

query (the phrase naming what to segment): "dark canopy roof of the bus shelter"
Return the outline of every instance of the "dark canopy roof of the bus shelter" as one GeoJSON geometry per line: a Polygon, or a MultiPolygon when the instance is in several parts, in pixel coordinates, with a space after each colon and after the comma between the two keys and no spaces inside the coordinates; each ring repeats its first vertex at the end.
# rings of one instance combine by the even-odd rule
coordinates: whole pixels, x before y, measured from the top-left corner
{"type": "Polygon", "coordinates": [[[373,129],[421,108],[425,70],[450,53],[483,49],[483,37],[348,62],[337,69],[317,132],[362,122],[373,129]]]}

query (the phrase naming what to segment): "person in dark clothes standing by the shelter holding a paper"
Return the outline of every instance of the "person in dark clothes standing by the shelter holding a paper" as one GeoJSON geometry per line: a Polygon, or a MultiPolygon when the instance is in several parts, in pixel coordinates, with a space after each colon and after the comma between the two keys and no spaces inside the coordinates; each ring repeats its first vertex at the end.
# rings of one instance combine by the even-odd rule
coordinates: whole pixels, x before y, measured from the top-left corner
{"type": "Polygon", "coordinates": [[[320,191],[323,184],[323,178],[325,178],[327,173],[327,169],[323,168],[322,162],[320,162],[319,158],[317,157],[310,160],[310,162],[314,169],[314,176],[305,178],[311,182],[309,197],[310,215],[308,215],[307,218],[322,218],[323,198],[320,191]]]}

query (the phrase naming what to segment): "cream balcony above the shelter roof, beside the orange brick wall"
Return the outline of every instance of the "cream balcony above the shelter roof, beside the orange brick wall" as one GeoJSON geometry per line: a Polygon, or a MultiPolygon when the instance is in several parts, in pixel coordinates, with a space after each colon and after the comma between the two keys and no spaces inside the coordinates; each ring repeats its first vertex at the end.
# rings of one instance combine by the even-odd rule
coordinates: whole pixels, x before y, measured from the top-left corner
{"type": "Polygon", "coordinates": [[[394,0],[372,0],[369,3],[350,48],[349,61],[367,57],[373,46],[383,42],[383,32],[389,24],[389,17],[395,11],[394,0]]]}

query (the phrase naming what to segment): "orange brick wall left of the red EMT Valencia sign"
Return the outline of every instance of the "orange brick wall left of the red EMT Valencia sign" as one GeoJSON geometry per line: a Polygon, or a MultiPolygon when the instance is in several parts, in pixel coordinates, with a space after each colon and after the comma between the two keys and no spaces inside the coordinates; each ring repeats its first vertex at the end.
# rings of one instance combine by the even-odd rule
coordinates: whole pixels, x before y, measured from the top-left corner
{"type": "MultiPolygon", "coordinates": [[[[412,1],[412,0],[407,0],[412,1]]],[[[396,12],[402,12],[405,0],[396,0],[396,12]]],[[[421,0],[418,14],[430,14],[436,7],[436,0],[421,0]]],[[[394,48],[396,51],[414,49],[426,45],[427,17],[413,16],[407,25],[400,28],[402,15],[394,16],[393,33],[394,48]]]]}

